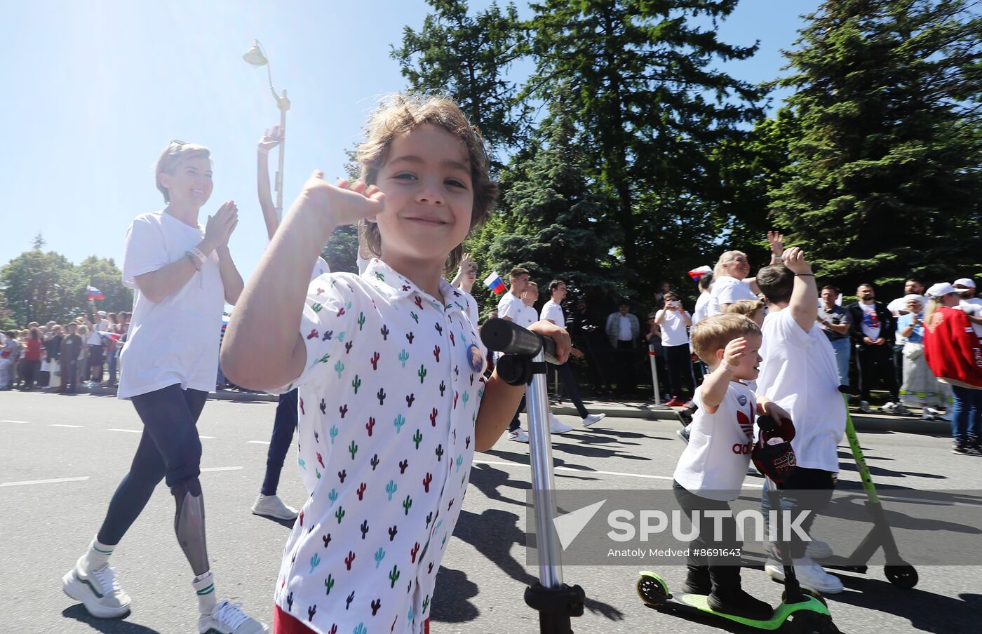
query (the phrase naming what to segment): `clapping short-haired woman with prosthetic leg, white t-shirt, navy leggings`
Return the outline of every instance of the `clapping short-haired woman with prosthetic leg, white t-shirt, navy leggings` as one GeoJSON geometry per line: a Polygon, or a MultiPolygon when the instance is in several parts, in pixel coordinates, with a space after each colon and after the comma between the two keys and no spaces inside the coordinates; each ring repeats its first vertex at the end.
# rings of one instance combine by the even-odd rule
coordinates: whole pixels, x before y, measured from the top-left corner
{"type": "Polygon", "coordinates": [[[198,224],[213,187],[209,155],[201,145],[171,141],[156,166],[167,206],[137,216],[127,232],[123,283],[134,289],[134,309],[118,396],[133,400],[143,435],[99,532],[62,582],[94,616],[127,613],[130,597],[115,581],[109,556],[165,479],[177,506],[175,533],[195,575],[198,631],[258,634],[263,624],[216,600],[198,482],[196,424],[215,387],[222,311],[244,286],[229,252],[239,222],[235,202],[208,216],[207,228],[198,224]]]}

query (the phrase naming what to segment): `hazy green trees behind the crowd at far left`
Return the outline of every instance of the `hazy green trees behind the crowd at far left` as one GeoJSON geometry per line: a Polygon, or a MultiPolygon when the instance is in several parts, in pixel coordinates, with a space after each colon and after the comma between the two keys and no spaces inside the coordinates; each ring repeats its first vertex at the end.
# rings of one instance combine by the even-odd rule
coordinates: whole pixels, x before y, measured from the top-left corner
{"type": "Polygon", "coordinates": [[[106,296],[95,302],[97,310],[130,310],[133,291],[123,286],[122,277],[112,259],[91,255],[75,266],[54,251],[34,248],[0,268],[0,289],[9,311],[4,319],[0,304],[0,320],[26,326],[32,321],[63,323],[88,314],[87,285],[106,296]]]}

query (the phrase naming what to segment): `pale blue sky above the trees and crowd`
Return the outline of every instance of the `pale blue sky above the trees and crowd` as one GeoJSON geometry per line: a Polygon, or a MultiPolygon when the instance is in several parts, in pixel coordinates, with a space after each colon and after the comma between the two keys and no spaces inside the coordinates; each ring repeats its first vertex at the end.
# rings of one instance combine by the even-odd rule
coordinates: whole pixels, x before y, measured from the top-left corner
{"type": "MultiPolygon", "coordinates": [[[[258,38],[286,88],[284,204],[313,169],[342,174],[377,98],[405,87],[390,59],[404,26],[418,28],[422,0],[357,2],[109,2],[4,0],[7,61],[0,105],[5,230],[0,264],[42,234],[45,250],[79,263],[115,258],[132,219],[162,208],[153,163],[172,138],[212,150],[215,189],[202,209],[239,205],[232,253],[244,277],[266,245],[255,195],[255,144],[279,121],[265,70],[242,54],[258,38]]],[[[474,7],[488,4],[471,0],[474,7]]],[[[503,1],[501,4],[505,4],[503,1]]],[[[524,10],[524,4],[517,3],[524,10]]],[[[743,0],[720,27],[725,41],[760,40],[752,59],[728,67],[774,79],[819,0],[743,0]]],[[[524,10],[527,13],[527,10],[524,10]]],[[[517,73],[520,73],[517,70],[517,73]]],[[[275,151],[270,163],[275,171],[275,151]]],[[[272,175],[271,175],[272,178],[272,175]]],[[[122,308],[122,307],[117,307],[122,308]]]]}

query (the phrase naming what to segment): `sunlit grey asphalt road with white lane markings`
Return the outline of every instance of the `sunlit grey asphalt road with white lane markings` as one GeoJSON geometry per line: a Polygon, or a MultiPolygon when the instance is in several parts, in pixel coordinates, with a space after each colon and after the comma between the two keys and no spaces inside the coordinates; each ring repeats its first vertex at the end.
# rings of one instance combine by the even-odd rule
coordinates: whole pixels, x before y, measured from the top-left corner
{"type": "MultiPolygon", "coordinates": [[[[269,402],[213,401],[199,423],[208,551],[220,598],[245,603],[270,622],[272,591],[289,527],[252,515],[265,466],[273,410],[269,402]]],[[[561,417],[574,424],[573,417],[561,417]]],[[[668,490],[682,444],[676,423],[608,418],[595,429],[554,436],[559,489],[668,490]]],[[[124,619],[91,618],[61,592],[61,577],[82,554],[126,473],[139,440],[133,406],[115,397],[0,394],[0,632],[192,632],[191,569],[173,533],[174,502],[161,485],[113,555],[118,579],[134,598],[124,619]]],[[[955,456],[940,436],[862,433],[882,492],[982,489],[982,457],[955,456]]],[[[843,448],[841,481],[857,478],[843,448]]],[[[522,601],[537,569],[525,562],[528,446],[508,440],[475,456],[454,543],[440,569],[433,632],[538,632],[522,601]]],[[[751,478],[750,482],[754,480],[751,478]]],[[[759,483],[759,479],[756,480],[759,483]]],[[[305,498],[296,467],[284,468],[280,495],[305,498]]],[[[816,523],[816,527],[820,526],[816,523]]],[[[749,546],[749,545],[748,545],[749,546]]],[[[982,547],[982,544],[980,544],[982,547]]],[[[568,566],[566,581],[586,591],[576,632],[719,631],[645,608],[634,592],[639,568],[568,566]]],[[[683,568],[663,570],[670,585],[683,568]]],[[[836,624],[851,634],[982,631],[982,567],[918,566],[919,585],[901,591],[880,568],[844,573],[846,592],[828,597],[836,624]]],[[[776,604],[782,587],[761,569],[743,570],[744,588],[776,604]]],[[[726,627],[728,631],[747,631],[726,627]]]]}

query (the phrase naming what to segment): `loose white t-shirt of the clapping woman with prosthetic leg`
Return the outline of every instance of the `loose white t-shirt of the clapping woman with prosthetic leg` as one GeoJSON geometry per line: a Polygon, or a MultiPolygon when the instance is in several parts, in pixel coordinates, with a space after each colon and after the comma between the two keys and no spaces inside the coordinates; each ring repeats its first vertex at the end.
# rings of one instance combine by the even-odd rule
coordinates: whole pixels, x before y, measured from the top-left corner
{"type": "Polygon", "coordinates": [[[162,211],[141,214],[130,225],[123,284],[134,290],[133,319],[120,356],[120,398],[175,384],[182,390],[215,389],[225,308],[218,254],[212,251],[183,287],[159,303],[140,292],[134,279],[187,257],[203,238],[200,225],[190,227],[162,211]]]}

